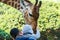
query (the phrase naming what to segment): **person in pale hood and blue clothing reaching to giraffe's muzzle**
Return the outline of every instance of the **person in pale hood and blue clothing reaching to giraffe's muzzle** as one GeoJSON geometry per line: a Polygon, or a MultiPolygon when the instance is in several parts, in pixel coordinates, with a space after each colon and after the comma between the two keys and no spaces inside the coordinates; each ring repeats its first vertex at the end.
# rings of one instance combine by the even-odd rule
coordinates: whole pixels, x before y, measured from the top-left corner
{"type": "Polygon", "coordinates": [[[15,40],[37,40],[38,38],[40,38],[39,30],[37,29],[36,34],[34,34],[31,25],[24,25],[22,32],[23,35],[17,36],[15,40]]]}

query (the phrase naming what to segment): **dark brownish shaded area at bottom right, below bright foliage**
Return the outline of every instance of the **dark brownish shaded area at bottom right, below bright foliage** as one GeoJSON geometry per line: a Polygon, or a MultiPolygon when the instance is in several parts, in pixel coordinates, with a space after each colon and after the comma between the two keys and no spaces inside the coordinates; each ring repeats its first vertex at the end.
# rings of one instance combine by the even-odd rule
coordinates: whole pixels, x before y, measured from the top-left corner
{"type": "Polygon", "coordinates": [[[41,38],[39,40],[60,40],[60,28],[41,31],[41,38]]]}

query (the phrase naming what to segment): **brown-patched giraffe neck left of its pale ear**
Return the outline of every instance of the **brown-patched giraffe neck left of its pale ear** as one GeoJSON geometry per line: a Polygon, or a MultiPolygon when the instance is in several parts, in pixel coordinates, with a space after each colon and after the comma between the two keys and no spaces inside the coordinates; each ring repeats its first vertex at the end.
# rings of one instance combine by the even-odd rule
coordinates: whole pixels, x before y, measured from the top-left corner
{"type": "Polygon", "coordinates": [[[0,2],[20,10],[20,0],[0,0],[0,2]]]}

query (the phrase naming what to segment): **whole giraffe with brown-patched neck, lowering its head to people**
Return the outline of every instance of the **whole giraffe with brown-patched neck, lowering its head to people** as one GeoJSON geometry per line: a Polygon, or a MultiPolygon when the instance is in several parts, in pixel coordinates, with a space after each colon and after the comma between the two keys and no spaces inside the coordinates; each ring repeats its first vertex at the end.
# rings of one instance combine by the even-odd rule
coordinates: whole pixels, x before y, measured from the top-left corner
{"type": "Polygon", "coordinates": [[[25,23],[32,26],[34,33],[36,33],[37,21],[39,18],[39,8],[42,2],[38,4],[38,0],[33,4],[29,0],[0,0],[5,4],[8,4],[23,13],[25,23]]]}

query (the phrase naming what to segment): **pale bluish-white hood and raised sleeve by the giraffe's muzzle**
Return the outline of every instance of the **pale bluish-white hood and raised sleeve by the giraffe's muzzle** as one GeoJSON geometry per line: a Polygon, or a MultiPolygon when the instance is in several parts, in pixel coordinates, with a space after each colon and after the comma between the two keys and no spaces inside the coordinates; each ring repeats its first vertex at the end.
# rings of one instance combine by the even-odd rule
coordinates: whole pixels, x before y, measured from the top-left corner
{"type": "Polygon", "coordinates": [[[37,29],[37,33],[34,34],[31,25],[28,25],[28,24],[24,25],[22,32],[23,33],[31,33],[32,34],[31,36],[34,37],[35,39],[40,38],[40,31],[37,29]]]}

